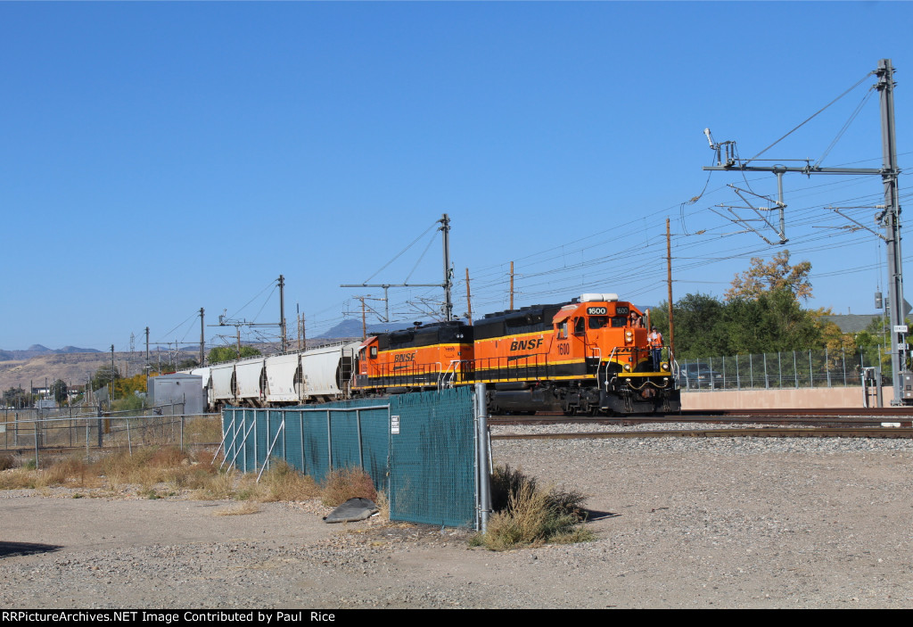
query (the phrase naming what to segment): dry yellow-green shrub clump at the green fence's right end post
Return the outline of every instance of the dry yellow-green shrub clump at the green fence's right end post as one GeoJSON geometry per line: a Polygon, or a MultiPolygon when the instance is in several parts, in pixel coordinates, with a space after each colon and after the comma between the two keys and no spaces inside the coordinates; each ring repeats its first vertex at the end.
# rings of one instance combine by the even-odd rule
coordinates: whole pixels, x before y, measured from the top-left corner
{"type": "Polygon", "coordinates": [[[593,532],[580,527],[586,513],[579,492],[543,489],[535,478],[507,465],[495,468],[491,484],[497,514],[489,518],[488,531],[473,538],[473,544],[507,550],[593,539],[593,532]]]}

